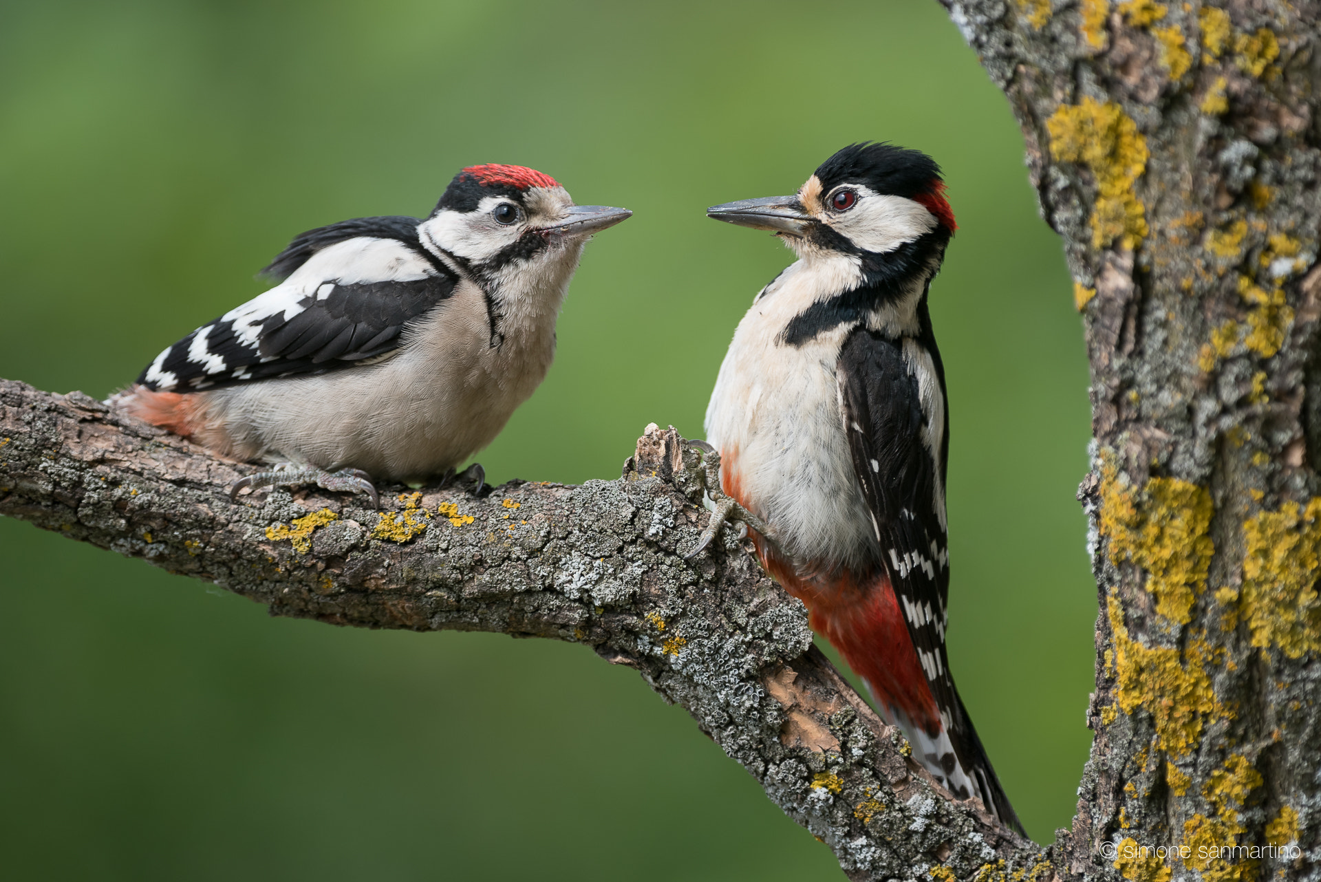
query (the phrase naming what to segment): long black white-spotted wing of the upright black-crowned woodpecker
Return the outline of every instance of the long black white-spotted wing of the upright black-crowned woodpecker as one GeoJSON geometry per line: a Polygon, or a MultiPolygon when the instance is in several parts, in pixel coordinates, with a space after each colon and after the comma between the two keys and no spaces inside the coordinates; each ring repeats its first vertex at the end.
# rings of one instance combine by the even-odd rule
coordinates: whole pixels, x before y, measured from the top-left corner
{"type": "MultiPolygon", "coordinates": [[[[930,382],[938,383],[943,396],[939,353],[929,323],[923,325],[919,341],[935,368],[930,382]]],[[[959,764],[974,780],[980,779],[983,803],[1021,832],[954,687],[945,648],[950,569],[937,487],[945,485],[948,413],[937,461],[922,440],[927,416],[922,411],[918,378],[904,356],[902,339],[859,327],[840,347],[836,375],[853,470],[872,514],[881,565],[900,598],[950,742],[959,764]]]]}

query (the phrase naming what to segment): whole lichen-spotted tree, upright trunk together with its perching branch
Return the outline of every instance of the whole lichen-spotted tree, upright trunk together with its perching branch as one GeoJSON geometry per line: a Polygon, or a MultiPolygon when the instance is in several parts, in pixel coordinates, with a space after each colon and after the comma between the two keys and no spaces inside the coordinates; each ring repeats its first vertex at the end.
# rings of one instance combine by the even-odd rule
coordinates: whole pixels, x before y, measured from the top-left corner
{"type": "Polygon", "coordinates": [[[1317,877],[1317,4],[942,3],[1022,125],[1091,360],[1096,735],[1052,846],[937,786],[745,547],[682,557],[709,478],[672,429],[613,482],[234,502],[239,463],[0,380],[0,515],[279,615],[585,643],[849,878],[1317,877]]]}

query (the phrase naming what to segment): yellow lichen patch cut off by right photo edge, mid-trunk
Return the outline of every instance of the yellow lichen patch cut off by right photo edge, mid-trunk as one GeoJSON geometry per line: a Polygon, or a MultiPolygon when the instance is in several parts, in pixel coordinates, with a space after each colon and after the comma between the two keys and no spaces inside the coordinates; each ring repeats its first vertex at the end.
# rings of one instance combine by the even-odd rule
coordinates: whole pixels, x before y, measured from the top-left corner
{"type": "Polygon", "coordinates": [[[1301,510],[1287,502],[1243,524],[1240,609],[1252,646],[1291,659],[1321,648],[1321,498],[1301,510]]]}

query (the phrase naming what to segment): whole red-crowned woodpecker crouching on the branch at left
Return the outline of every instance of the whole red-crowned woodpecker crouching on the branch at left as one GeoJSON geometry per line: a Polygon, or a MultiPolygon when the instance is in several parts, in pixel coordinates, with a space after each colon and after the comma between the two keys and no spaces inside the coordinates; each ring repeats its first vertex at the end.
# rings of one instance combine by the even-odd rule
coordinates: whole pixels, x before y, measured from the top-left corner
{"type": "MultiPolygon", "coordinates": [[[[244,486],[449,475],[546,376],[555,321],[593,232],[633,213],[576,206],[518,165],[462,169],[425,220],[310,230],[275,288],[202,325],[112,401],[240,459],[244,486]]],[[[474,466],[481,489],[481,466],[474,466]]]]}

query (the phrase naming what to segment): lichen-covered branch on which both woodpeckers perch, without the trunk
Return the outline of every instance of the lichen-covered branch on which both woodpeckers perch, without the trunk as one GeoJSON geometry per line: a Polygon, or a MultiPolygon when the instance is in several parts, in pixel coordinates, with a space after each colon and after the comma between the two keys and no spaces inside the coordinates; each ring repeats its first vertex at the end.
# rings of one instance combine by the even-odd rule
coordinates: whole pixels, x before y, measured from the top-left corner
{"type": "Polygon", "coordinates": [[[82,395],[0,380],[0,515],[207,580],[275,615],[583,643],[638,669],[822,838],[849,878],[1040,874],[941,790],[812,647],[807,613],[707,519],[699,453],[649,430],[618,481],[229,498],[252,466],[82,395]],[[1003,862],[1003,864],[1001,864],[1003,862]]]}

